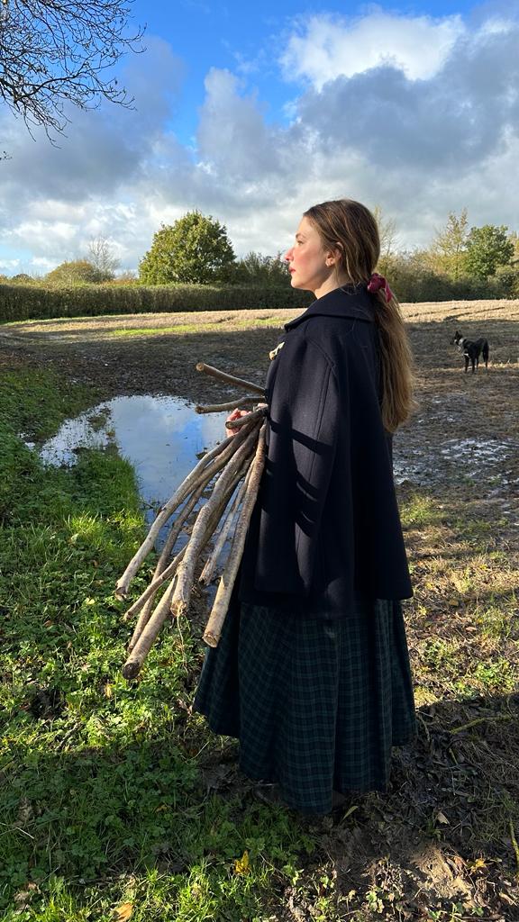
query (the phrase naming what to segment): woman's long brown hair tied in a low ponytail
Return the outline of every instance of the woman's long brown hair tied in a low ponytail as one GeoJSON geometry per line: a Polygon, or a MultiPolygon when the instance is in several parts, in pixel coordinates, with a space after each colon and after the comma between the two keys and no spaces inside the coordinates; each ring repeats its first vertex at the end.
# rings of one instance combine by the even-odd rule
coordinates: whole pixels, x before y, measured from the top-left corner
{"type": "MultiPolygon", "coordinates": [[[[380,256],[377,221],[367,207],[349,198],[322,202],[305,211],[326,249],[340,250],[340,267],[353,285],[368,285],[380,256]]],[[[382,422],[395,431],[414,407],[414,365],[400,304],[383,290],[371,295],[380,333],[382,422]]]]}

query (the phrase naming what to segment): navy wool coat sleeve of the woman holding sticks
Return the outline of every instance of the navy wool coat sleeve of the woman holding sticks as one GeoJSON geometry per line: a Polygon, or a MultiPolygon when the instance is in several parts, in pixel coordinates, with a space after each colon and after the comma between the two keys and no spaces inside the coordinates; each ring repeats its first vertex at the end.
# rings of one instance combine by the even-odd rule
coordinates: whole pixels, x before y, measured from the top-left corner
{"type": "Polygon", "coordinates": [[[348,401],[339,398],[332,362],[311,340],[285,343],[275,361],[254,585],[307,596],[348,401]]]}

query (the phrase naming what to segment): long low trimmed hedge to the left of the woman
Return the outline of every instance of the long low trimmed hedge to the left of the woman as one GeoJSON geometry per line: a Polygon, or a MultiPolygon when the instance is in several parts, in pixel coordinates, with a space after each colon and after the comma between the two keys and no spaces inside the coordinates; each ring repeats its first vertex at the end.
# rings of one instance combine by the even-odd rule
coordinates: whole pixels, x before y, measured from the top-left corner
{"type": "Polygon", "coordinates": [[[0,285],[0,321],[51,317],[99,316],[104,313],[167,313],[181,311],[303,308],[313,300],[308,291],[290,285],[0,285]]]}

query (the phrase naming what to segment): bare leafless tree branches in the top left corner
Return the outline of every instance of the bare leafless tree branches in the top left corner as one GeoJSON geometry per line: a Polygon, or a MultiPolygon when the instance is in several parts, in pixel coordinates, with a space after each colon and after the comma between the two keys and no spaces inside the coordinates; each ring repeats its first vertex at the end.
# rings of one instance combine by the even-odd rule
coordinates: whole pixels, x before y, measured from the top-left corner
{"type": "Polygon", "coordinates": [[[65,106],[101,100],[131,105],[110,71],[139,51],[142,31],[128,33],[132,0],[2,0],[0,100],[27,126],[61,132],[65,106]]]}

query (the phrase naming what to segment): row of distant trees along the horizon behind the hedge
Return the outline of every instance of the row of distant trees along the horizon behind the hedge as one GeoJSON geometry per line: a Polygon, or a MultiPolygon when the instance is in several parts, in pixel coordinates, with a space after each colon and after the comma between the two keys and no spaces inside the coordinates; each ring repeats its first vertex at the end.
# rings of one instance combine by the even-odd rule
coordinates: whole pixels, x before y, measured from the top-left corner
{"type": "MultiPolygon", "coordinates": [[[[451,212],[428,248],[400,250],[394,220],[375,208],[380,228],[378,271],[392,280],[401,301],[456,297],[519,296],[519,238],[504,225],[469,227],[466,208],[451,212]]],[[[116,275],[119,261],[105,238],[91,241],[87,254],[56,266],[42,279],[49,285],[132,283],[288,286],[290,277],[281,254],[256,252],[236,258],[224,225],[198,210],[154,234],[139,274],[116,275]]],[[[18,274],[4,282],[30,283],[18,274]]]]}

